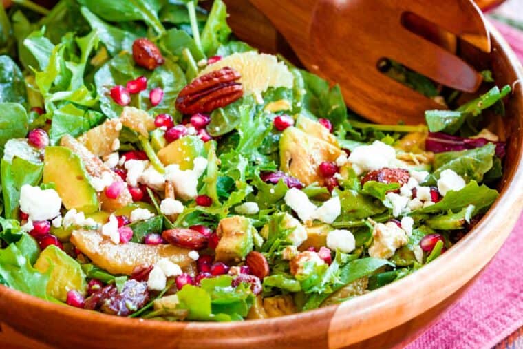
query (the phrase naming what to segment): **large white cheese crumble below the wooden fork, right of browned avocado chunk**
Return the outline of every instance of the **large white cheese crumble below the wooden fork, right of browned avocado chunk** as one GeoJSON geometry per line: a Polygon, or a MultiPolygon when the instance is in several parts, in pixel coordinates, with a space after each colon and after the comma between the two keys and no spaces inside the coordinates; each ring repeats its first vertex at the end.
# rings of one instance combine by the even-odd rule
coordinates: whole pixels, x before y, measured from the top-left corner
{"type": "Polygon", "coordinates": [[[356,174],[360,175],[365,171],[374,171],[389,166],[396,160],[396,150],[376,140],[372,145],[361,145],[354,148],[348,160],[352,163],[356,174]]]}

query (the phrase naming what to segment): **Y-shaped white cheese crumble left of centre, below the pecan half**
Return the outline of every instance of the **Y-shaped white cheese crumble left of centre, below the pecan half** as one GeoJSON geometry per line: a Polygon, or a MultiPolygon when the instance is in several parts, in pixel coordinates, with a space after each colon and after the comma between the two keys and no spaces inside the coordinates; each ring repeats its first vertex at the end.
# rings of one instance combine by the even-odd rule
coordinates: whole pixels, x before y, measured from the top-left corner
{"type": "Polygon", "coordinates": [[[193,160],[192,170],[181,170],[177,164],[165,167],[165,178],[173,183],[174,190],[182,200],[198,196],[198,178],[207,168],[207,159],[198,156],[193,160]]]}

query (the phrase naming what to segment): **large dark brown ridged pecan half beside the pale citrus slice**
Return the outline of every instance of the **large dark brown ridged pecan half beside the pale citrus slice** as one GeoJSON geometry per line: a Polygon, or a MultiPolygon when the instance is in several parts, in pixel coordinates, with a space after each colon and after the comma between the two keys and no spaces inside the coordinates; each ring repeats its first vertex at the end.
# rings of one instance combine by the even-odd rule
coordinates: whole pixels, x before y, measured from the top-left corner
{"type": "Polygon", "coordinates": [[[210,113],[242,98],[241,76],[231,67],[224,67],[195,78],[176,98],[176,109],[183,114],[210,113]]]}

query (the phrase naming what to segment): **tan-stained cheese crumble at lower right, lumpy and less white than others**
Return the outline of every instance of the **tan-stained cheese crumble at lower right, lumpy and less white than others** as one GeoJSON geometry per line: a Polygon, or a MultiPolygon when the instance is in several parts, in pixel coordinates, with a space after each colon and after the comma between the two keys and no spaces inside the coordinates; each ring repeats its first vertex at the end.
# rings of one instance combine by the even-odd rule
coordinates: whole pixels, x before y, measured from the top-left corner
{"type": "Polygon", "coordinates": [[[396,249],[405,246],[409,241],[405,231],[394,222],[376,224],[372,236],[374,240],[369,247],[369,255],[375,258],[390,258],[396,249]]]}

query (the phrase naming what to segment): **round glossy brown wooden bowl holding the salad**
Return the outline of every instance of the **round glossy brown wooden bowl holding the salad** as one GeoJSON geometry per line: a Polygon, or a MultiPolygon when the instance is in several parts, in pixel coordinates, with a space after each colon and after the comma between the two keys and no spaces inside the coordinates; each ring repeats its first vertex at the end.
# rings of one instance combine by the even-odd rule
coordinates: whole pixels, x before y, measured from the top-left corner
{"type": "MultiPolygon", "coordinates": [[[[462,47],[491,66],[498,85],[523,81],[522,67],[492,30],[493,52],[462,47]]],[[[416,273],[337,306],[235,323],[167,323],[78,310],[0,286],[0,320],[58,348],[387,348],[412,339],[454,302],[511,233],[523,207],[523,90],[506,107],[507,156],[500,198],[458,244],[416,273]]]]}

